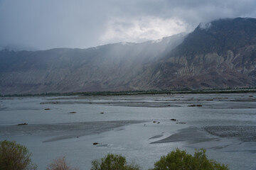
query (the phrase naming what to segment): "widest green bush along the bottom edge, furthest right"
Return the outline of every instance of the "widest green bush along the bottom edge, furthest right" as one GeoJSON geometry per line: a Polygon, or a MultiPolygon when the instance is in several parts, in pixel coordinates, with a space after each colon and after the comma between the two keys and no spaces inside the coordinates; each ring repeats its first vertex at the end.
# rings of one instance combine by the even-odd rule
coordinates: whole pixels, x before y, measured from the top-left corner
{"type": "Polygon", "coordinates": [[[206,149],[196,150],[193,156],[186,151],[176,149],[161,157],[151,170],[228,170],[228,166],[209,160],[206,149]]]}

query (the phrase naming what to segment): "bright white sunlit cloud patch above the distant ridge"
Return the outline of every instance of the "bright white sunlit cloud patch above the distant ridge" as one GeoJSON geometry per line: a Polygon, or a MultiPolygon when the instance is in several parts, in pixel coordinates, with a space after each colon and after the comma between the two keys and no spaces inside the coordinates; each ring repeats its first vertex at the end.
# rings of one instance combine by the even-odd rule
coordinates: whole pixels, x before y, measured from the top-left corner
{"type": "Polygon", "coordinates": [[[103,44],[118,41],[143,42],[186,32],[186,27],[186,23],[177,18],[112,18],[100,40],[103,44]]]}

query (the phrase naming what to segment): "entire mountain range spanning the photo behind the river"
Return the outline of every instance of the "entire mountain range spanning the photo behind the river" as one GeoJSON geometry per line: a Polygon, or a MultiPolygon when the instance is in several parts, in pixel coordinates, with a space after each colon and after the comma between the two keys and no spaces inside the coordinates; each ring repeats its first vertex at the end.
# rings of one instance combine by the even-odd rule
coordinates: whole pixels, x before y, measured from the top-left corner
{"type": "Polygon", "coordinates": [[[201,23],[142,43],[0,51],[0,94],[256,86],[256,19],[201,23]]]}

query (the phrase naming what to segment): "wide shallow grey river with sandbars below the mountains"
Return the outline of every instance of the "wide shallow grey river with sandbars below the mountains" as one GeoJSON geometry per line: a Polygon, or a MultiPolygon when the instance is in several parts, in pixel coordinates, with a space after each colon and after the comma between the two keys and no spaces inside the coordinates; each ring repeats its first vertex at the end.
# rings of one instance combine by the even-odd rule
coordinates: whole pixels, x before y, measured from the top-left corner
{"type": "Polygon", "coordinates": [[[256,169],[256,142],[242,140],[256,137],[256,94],[70,96],[0,101],[0,140],[26,145],[38,169],[46,169],[53,159],[63,156],[79,169],[90,169],[93,159],[107,153],[122,154],[129,162],[134,160],[143,169],[149,169],[161,155],[176,147],[190,153],[203,147],[210,159],[229,164],[230,169],[256,169]],[[19,123],[28,125],[17,126],[19,123]],[[244,137],[243,131],[250,137],[244,137]],[[92,145],[93,142],[100,145],[92,145]]]}

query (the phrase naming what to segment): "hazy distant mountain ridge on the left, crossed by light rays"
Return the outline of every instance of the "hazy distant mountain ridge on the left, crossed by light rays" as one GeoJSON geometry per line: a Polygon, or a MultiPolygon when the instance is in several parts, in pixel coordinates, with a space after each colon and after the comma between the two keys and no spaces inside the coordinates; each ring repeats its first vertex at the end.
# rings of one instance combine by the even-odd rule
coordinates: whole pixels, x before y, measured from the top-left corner
{"type": "Polygon", "coordinates": [[[0,51],[0,94],[132,90],[144,66],[181,44],[186,34],[89,49],[0,51]]]}

